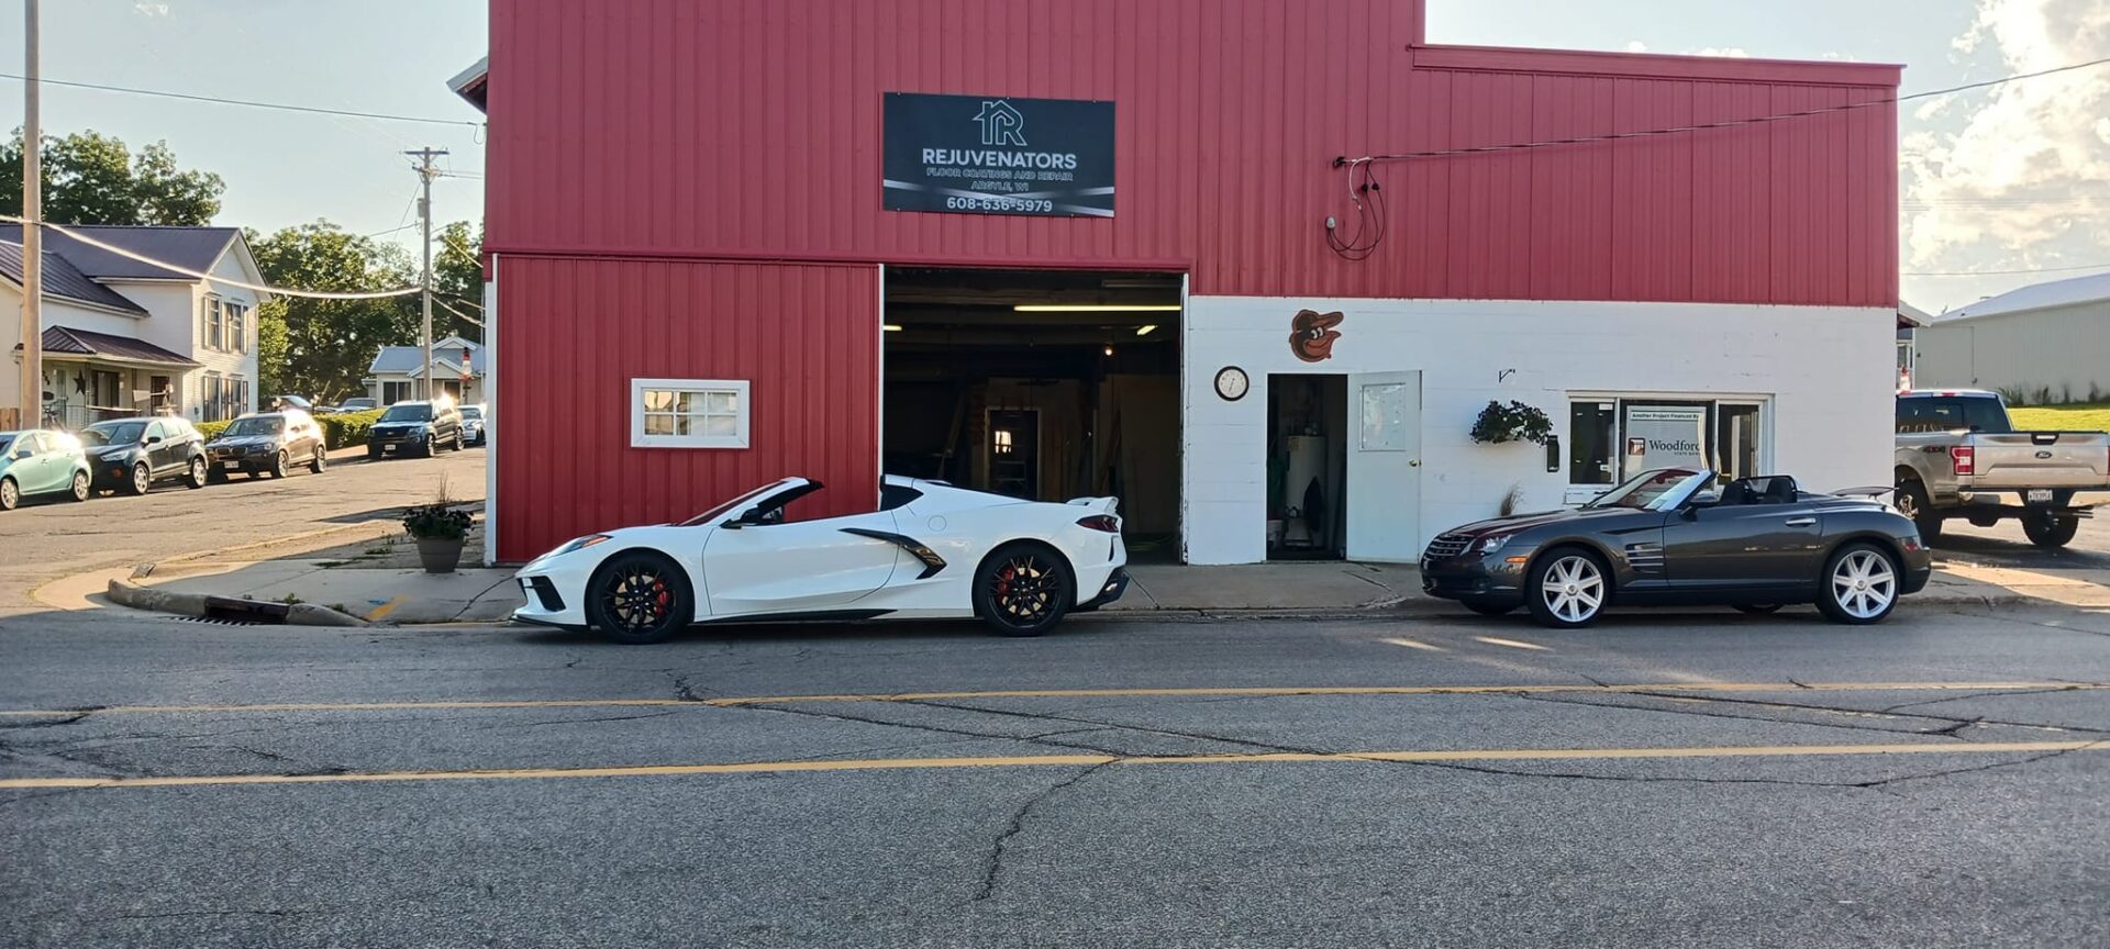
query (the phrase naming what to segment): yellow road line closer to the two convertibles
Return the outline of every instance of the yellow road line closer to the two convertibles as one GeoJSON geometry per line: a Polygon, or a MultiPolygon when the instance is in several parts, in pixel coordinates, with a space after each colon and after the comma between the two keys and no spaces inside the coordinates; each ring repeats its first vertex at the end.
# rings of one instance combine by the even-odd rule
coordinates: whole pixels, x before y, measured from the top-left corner
{"type": "Polygon", "coordinates": [[[0,709],[0,719],[46,719],[68,715],[241,715],[241,713],[357,713],[418,709],[650,709],[705,706],[730,709],[743,704],[793,702],[933,702],[973,698],[1226,698],[1226,696],[1477,696],[1477,694],[1547,694],[1547,692],[2019,692],[2019,690],[2110,690],[2093,681],[1671,681],[1629,685],[1226,685],[1226,687],[1133,687],[1133,690],[979,690],[979,692],[874,692],[814,696],[728,696],[728,698],[492,698],[435,702],[255,702],[255,704],[112,704],[82,709],[0,709]]]}

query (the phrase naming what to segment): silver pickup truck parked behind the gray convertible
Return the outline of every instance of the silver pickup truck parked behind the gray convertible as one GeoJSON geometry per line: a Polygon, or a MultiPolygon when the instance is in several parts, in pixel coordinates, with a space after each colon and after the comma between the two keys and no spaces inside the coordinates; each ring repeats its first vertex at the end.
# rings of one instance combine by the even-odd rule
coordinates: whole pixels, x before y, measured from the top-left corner
{"type": "Polygon", "coordinates": [[[1998,392],[1897,394],[1897,510],[1941,536],[1960,517],[1979,527],[2021,519],[2036,546],[2066,546],[2110,491],[2110,432],[2017,432],[1998,392]]]}

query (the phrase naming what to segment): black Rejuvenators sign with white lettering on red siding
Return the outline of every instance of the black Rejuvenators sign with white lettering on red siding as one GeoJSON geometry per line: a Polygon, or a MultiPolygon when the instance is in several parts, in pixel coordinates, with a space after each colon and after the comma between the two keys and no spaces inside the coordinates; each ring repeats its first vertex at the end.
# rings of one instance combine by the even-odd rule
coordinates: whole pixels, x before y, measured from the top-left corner
{"type": "Polygon", "coordinates": [[[886,93],[886,209],[1114,217],[1114,103],[886,93]]]}

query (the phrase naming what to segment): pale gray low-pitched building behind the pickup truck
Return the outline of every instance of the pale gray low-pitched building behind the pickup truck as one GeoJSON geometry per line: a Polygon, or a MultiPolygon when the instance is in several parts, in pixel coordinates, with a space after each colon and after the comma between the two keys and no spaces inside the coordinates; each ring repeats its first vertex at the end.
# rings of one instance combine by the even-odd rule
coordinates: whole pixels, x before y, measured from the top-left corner
{"type": "Polygon", "coordinates": [[[2110,274],[2036,283],[1935,316],[1914,340],[1920,386],[2028,403],[2110,399],[2110,274]]]}

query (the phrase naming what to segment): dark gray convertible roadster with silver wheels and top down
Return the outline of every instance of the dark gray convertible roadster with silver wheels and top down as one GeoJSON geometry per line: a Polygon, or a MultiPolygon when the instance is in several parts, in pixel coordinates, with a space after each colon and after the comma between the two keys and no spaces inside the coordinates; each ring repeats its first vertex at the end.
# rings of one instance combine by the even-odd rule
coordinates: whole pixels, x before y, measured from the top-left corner
{"type": "Polygon", "coordinates": [[[1612,603],[1770,614],[1812,601],[1861,624],[1926,586],[1918,527],[1876,498],[1802,491],[1787,475],[1715,481],[1644,470],[1580,508],[1443,531],[1422,555],[1422,590],[1488,616],[1521,605],[1547,626],[1589,626],[1612,603]]]}

